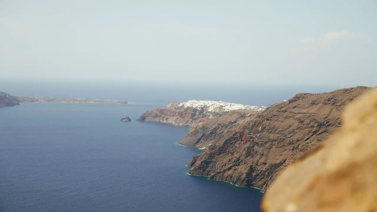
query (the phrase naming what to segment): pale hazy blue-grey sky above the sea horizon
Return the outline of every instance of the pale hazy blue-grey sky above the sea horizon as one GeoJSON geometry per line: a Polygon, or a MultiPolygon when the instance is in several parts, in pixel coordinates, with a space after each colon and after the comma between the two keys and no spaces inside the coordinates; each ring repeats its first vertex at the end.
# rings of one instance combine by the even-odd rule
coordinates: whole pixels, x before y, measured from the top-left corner
{"type": "Polygon", "coordinates": [[[377,2],[0,0],[0,78],[377,86],[377,2]]]}

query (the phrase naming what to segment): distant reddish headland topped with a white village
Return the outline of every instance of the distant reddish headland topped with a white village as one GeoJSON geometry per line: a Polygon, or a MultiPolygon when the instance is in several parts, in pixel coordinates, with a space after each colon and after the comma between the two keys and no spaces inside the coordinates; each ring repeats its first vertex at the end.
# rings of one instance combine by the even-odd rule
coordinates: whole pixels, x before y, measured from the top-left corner
{"type": "Polygon", "coordinates": [[[234,110],[262,111],[265,107],[221,101],[190,100],[184,103],[171,103],[166,108],[145,112],[136,121],[169,123],[177,126],[193,127],[203,121],[211,120],[234,110]]]}

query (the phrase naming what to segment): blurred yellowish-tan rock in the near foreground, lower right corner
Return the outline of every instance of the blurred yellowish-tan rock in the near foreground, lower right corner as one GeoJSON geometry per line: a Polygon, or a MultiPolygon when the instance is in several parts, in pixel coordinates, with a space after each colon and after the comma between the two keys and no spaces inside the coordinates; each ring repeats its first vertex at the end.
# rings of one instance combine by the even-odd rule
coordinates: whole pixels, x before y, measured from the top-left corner
{"type": "Polygon", "coordinates": [[[265,212],[377,211],[377,89],[350,103],[343,126],[286,168],[265,194],[265,212]]]}

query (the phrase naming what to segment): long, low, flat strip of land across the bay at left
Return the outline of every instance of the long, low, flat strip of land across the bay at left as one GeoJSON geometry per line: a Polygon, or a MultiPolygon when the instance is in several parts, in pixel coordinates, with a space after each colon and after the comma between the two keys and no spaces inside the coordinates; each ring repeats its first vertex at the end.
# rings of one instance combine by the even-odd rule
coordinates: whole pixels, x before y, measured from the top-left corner
{"type": "Polygon", "coordinates": [[[32,102],[60,102],[60,103],[107,103],[107,104],[127,104],[127,101],[120,100],[100,100],[84,98],[48,98],[48,97],[14,97],[21,103],[32,102]]]}

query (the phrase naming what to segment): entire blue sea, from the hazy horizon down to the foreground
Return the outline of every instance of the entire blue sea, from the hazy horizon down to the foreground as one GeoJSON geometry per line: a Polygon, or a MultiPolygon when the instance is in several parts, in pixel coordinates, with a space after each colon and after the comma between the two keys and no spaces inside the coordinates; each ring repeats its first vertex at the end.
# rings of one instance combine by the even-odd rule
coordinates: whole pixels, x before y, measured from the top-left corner
{"type": "Polygon", "coordinates": [[[202,152],[177,143],[189,128],[135,119],[171,102],[270,106],[299,92],[336,88],[41,81],[0,85],[0,91],[15,96],[129,101],[1,108],[0,212],[259,212],[261,190],[188,174],[186,164],[202,152]],[[133,121],[120,121],[126,116],[133,121]]]}

